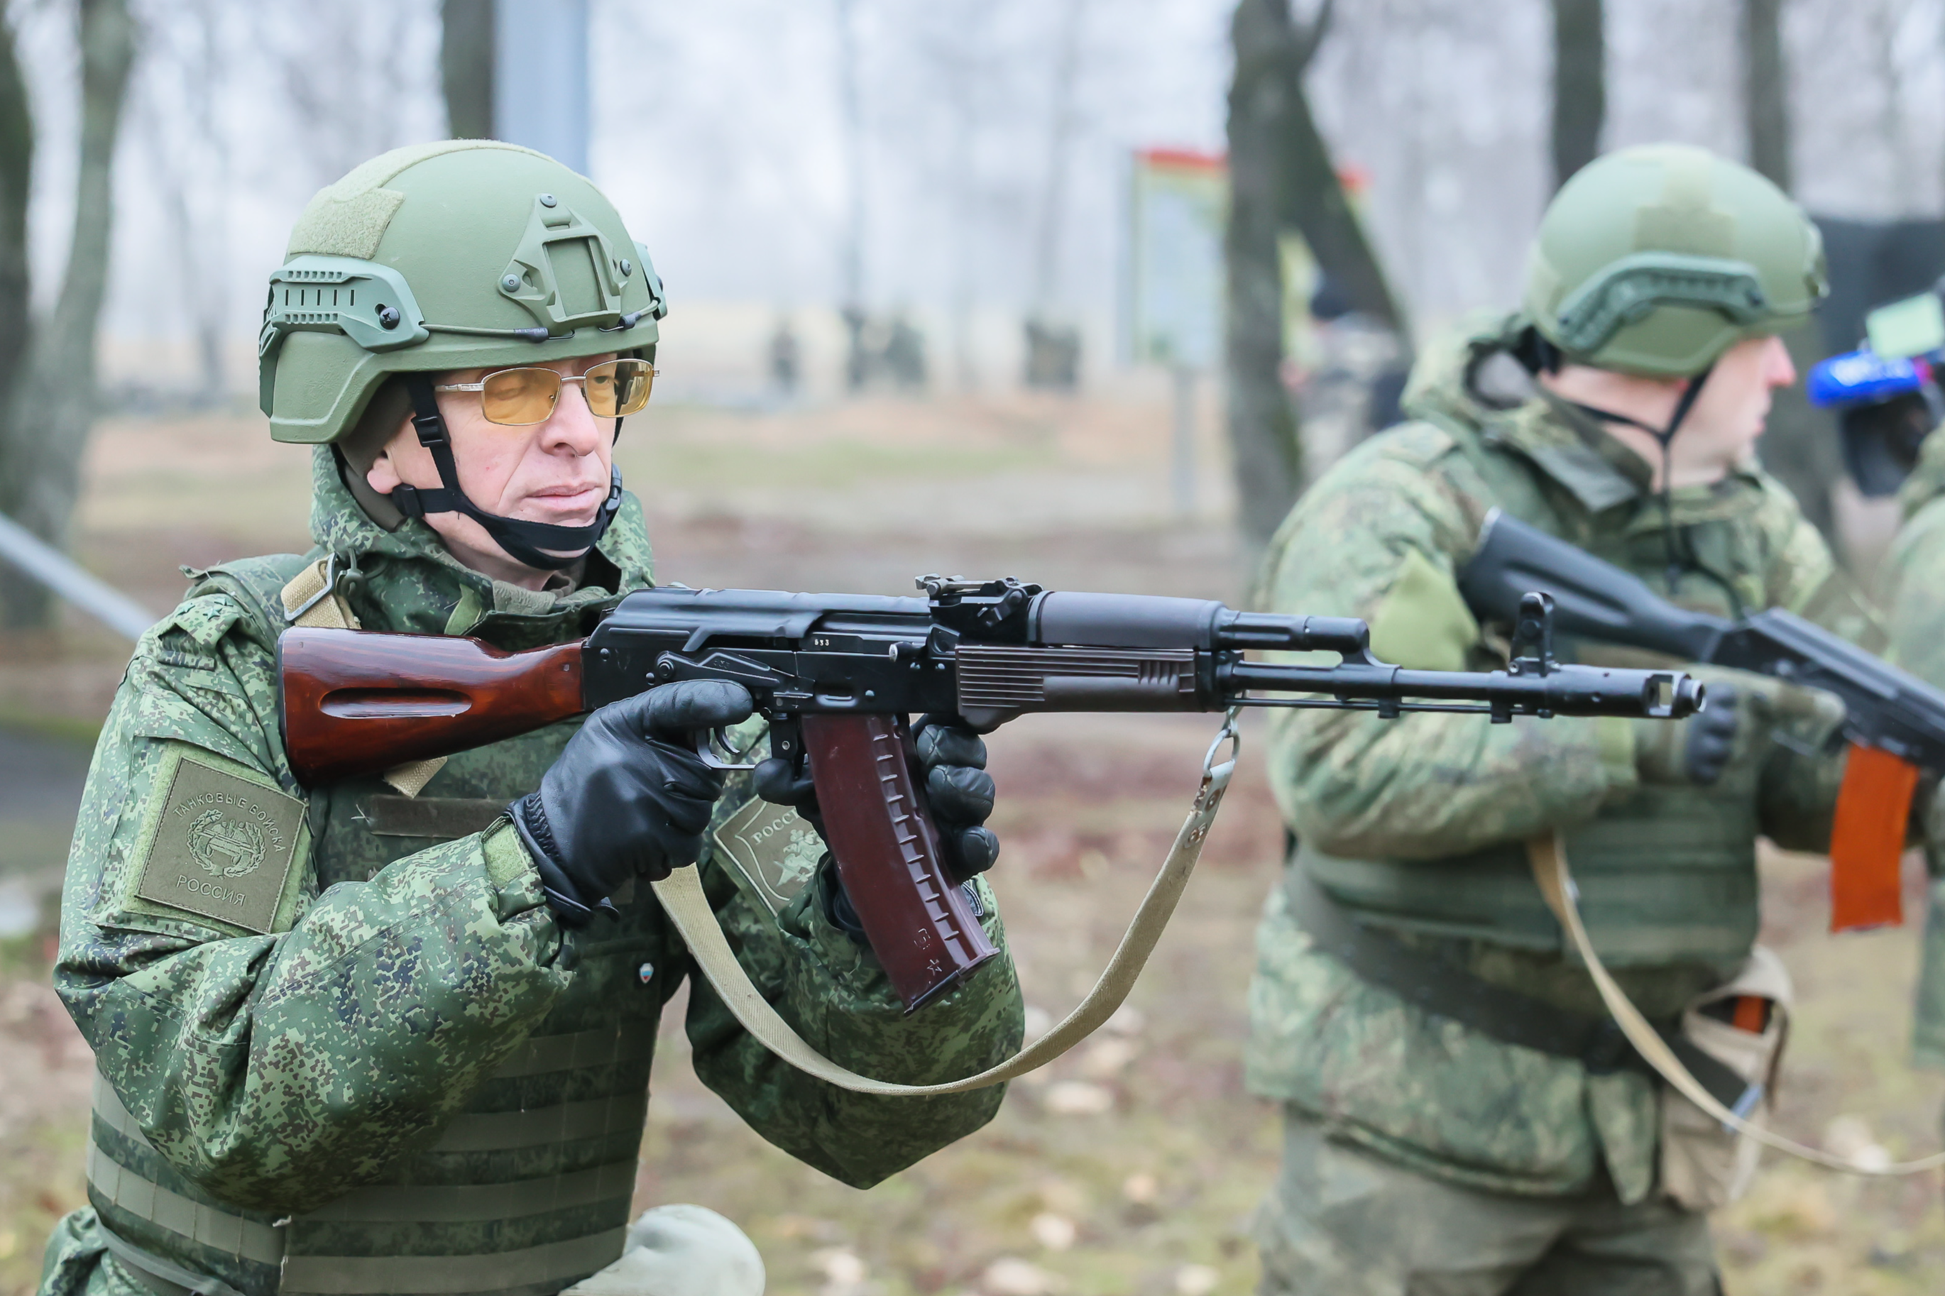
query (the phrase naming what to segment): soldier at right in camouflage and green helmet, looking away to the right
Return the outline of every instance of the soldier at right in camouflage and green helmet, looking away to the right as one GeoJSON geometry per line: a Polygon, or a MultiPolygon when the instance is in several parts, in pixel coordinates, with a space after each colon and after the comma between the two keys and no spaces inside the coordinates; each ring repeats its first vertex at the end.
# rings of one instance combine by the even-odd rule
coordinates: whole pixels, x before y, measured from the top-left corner
{"type": "MultiPolygon", "coordinates": [[[[1770,389],[1793,381],[1774,333],[1822,292],[1815,226],[1752,171],[1679,146],[1597,160],[1540,224],[1525,309],[1426,354],[1410,420],[1286,520],[1264,601],[1365,617],[1387,662],[1503,666],[1507,627],[1474,621],[1455,580],[1500,508],[1684,605],[1865,632],[1752,457],[1770,389]]],[[[1657,1173],[1657,1080],[1603,1029],[1523,850],[1566,831],[1593,942],[1651,1020],[1733,975],[1756,936],[1756,837],[1828,839],[1842,763],[1799,753],[1840,712],[1706,679],[1708,710],[1659,730],[1276,714],[1293,846],[1247,1055],[1251,1090],[1286,1103],[1264,1292],[1715,1290],[1706,1216],[1657,1173]],[[1463,1010],[1410,1002],[1428,983],[1463,1010]]]]}

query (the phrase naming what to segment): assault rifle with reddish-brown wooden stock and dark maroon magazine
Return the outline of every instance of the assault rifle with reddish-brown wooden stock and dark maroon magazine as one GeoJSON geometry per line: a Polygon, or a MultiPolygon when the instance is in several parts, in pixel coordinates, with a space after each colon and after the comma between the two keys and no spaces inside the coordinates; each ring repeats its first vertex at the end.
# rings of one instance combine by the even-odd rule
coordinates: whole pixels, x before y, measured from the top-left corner
{"type": "MultiPolygon", "coordinates": [[[[1680,718],[1702,706],[1700,683],[1679,671],[1554,662],[1538,595],[1521,605],[1507,669],[1459,673],[1379,662],[1369,629],[1350,617],[1017,580],[924,576],[920,588],[926,597],[663,586],[624,597],[585,640],[525,652],[292,629],[278,640],[284,745],[309,786],[478,747],[677,679],[735,681],[768,718],[772,755],[799,773],[809,765],[844,889],[910,1010],[994,955],[939,866],[912,780],[914,712],[957,712],[990,732],[1043,710],[1326,706],[1509,722],[1680,718]],[[1247,650],[1340,662],[1251,662],[1247,650]]],[[[727,738],[698,736],[696,747],[724,765],[727,738]]]]}

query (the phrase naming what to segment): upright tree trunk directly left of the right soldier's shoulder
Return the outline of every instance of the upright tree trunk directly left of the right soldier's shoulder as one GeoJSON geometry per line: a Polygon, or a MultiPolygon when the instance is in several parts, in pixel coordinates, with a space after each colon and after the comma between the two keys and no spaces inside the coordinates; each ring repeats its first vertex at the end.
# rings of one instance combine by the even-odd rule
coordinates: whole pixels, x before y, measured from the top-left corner
{"type": "Polygon", "coordinates": [[[1276,249],[1284,208],[1284,123],[1295,31],[1288,0],[1239,0],[1229,25],[1229,448],[1245,560],[1270,543],[1303,481],[1297,418],[1284,389],[1284,267],[1276,249]]]}

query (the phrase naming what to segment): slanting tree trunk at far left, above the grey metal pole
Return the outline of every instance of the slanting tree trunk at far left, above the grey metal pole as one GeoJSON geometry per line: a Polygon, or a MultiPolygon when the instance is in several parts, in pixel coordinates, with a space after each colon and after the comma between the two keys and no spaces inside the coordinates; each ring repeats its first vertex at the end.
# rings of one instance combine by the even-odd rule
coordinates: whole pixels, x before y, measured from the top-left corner
{"type": "MultiPolygon", "coordinates": [[[[6,498],[0,504],[18,523],[62,549],[95,420],[95,325],[109,282],[115,138],[134,64],[128,0],[80,0],[80,47],[82,152],[68,269],[53,313],[33,329],[25,368],[6,393],[6,426],[0,428],[6,442],[0,453],[6,498]]],[[[43,627],[51,617],[47,590],[10,568],[0,570],[0,625],[43,627]]]]}

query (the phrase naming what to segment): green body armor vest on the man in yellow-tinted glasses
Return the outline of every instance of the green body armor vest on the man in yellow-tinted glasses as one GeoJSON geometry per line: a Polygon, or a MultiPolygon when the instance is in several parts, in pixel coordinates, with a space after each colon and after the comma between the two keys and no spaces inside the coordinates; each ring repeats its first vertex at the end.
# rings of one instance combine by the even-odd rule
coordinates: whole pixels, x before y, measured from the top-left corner
{"type": "MultiPolygon", "coordinates": [[[[235,580],[222,588],[261,594],[235,580]]],[[[317,889],[484,829],[541,784],[574,728],[459,753],[418,798],[377,778],[311,788],[317,889]]],[[[202,1193],[97,1076],[88,1199],[111,1249],[163,1296],[550,1296],[619,1259],[655,1026],[683,952],[646,887],[617,905],[619,920],[562,948],[572,985],[461,1115],[385,1181],[317,1210],[276,1218],[202,1193]]]]}

